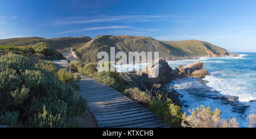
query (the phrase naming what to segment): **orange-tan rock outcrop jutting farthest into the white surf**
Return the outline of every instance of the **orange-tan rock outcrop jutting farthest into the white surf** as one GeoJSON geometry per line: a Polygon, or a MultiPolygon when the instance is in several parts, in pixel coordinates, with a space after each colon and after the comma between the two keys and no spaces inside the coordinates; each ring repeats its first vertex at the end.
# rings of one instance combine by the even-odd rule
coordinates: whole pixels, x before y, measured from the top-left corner
{"type": "Polygon", "coordinates": [[[179,75],[184,75],[187,77],[199,77],[204,78],[210,75],[206,69],[203,69],[203,62],[197,61],[188,65],[178,65],[179,75]]]}

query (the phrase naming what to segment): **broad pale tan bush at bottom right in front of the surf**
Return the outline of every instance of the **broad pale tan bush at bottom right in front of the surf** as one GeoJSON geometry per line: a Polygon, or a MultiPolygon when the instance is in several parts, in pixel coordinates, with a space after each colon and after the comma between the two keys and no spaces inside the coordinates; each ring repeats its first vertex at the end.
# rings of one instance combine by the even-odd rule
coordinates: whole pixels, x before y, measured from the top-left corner
{"type": "Polygon", "coordinates": [[[236,118],[230,121],[220,119],[220,109],[211,110],[210,107],[201,106],[197,107],[196,110],[190,110],[191,115],[187,116],[186,113],[183,115],[182,126],[192,128],[238,128],[236,118]]]}

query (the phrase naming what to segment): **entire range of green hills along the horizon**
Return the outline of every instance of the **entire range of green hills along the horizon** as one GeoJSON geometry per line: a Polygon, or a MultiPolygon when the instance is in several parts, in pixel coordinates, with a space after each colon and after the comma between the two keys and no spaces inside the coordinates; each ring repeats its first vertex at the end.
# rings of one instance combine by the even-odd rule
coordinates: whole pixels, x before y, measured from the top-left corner
{"type": "Polygon", "coordinates": [[[97,53],[101,51],[110,54],[110,47],[115,52],[159,52],[159,57],[166,60],[189,59],[193,57],[230,56],[228,50],[200,40],[159,41],[150,36],[112,36],[102,35],[93,39],[83,37],[60,37],[45,39],[43,37],[22,37],[2,39],[0,45],[25,46],[36,43],[48,43],[52,49],[64,53],[71,48],[83,62],[98,62],[97,53]]]}

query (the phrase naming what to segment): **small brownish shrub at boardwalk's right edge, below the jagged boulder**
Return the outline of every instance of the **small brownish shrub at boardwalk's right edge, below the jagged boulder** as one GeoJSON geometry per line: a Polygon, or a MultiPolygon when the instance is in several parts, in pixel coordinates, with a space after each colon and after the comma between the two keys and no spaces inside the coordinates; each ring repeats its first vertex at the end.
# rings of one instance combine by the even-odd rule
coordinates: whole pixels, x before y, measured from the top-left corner
{"type": "Polygon", "coordinates": [[[146,92],[139,90],[137,87],[126,89],[124,91],[124,94],[127,96],[130,96],[130,98],[133,98],[139,103],[147,104],[147,105],[149,105],[150,103],[151,96],[146,92]]]}

